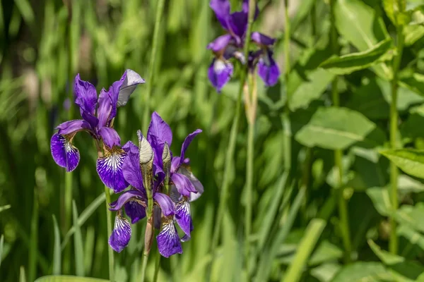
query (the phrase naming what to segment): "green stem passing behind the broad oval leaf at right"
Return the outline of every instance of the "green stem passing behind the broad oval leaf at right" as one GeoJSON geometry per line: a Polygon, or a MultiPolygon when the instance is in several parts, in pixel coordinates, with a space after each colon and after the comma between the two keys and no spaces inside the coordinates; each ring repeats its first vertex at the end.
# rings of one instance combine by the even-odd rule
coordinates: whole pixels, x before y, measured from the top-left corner
{"type": "MultiPolygon", "coordinates": [[[[335,25],[335,17],[334,17],[334,0],[330,1],[330,9],[331,9],[331,33],[330,33],[330,40],[331,40],[331,49],[333,51],[333,54],[338,54],[338,42],[337,42],[337,30],[335,25]]],[[[337,89],[337,81],[338,77],[336,76],[331,82],[331,96],[333,98],[333,106],[340,106],[340,97],[338,95],[338,89],[337,89]]],[[[336,169],[338,171],[338,181],[337,181],[337,201],[338,201],[338,216],[339,216],[339,223],[340,223],[340,231],[341,231],[341,240],[343,241],[343,247],[344,247],[344,258],[345,262],[349,263],[351,262],[351,252],[352,252],[352,245],[351,245],[351,231],[349,228],[349,216],[348,216],[348,203],[346,202],[346,199],[344,197],[344,187],[343,187],[343,152],[341,149],[334,150],[334,164],[336,166],[336,169]]]]}

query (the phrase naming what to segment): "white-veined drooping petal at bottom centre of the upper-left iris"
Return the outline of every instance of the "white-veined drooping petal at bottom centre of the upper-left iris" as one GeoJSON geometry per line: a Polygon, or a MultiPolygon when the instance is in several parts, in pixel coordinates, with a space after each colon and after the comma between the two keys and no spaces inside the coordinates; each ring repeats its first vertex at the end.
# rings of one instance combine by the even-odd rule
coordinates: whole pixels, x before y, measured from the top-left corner
{"type": "Polygon", "coordinates": [[[122,164],[124,163],[126,153],[123,149],[114,146],[105,151],[105,156],[97,161],[97,171],[103,183],[114,192],[121,192],[128,183],[122,173],[122,164]]]}

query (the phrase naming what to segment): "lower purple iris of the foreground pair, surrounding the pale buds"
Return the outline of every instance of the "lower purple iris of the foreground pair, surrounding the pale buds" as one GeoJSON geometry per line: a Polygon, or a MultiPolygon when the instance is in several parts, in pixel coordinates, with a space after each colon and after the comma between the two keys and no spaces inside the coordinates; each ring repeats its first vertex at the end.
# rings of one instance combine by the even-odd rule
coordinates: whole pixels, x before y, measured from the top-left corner
{"type": "Polygon", "coordinates": [[[146,178],[143,176],[152,173],[153,222],[155,228],[160,229],[156,237],[158,250],[163,257],[182,253],[181,241],[188,240],[193,230],[189,202],[196,200],[204,192],[203,185],[189,168],[189,159],[184,159],[187,147],[199,133],[201,130],[196,130],[187,136],[182,145],[181,157],[172,157],[169,149],[172,131],[170,126],[154,112],[147,139],[139,132],[139,144],[141,144],[139,147],[132,142],[127,142],[122,147],[126,152],[123,164],[124,178],[131,185],[131,189],[123,192],[119,199],[111,204],[111,210],[117,211],[114,230],[109,239],[113,250],[121,252],[131,238],[131,226],[122,216],[122,207],[133,224],[146,217],[148,196],[145,187],[146,178]],[[143,171],[141,165],[141,159],[145,156],[153,156],[153,167],[150,172],[143,171]],[[182,238],[179,238],[175,222],[184,232],[182,238]]]}

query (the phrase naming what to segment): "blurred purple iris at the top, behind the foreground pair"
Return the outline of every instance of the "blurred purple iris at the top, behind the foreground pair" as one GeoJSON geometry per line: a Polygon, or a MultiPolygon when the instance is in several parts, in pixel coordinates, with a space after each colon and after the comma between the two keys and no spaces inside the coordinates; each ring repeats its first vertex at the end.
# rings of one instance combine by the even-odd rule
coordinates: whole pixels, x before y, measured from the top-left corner
{"type": "MultiPolygon", "coordinates": [[[[208,49],[213,51],[215,58],[208,68],[208,78],[218,92],[230,80],[234,67],[230,59],[235,58],[242,64],[247,61],[250,72],[257,68],[259,77],[266,86],[273,86],[278,82],[280,70],[273,59],[273,46],[275,39],[259,32],[252,32],[250,39],[259,49],[249,50],[249,58],[245,58],[243,49],[249,18],[249,1],[243,0],[242,11],[230,13],[230,0],[211,0],[210,6],[215,12],[220,25],[227,31],[225,35],[217,37],[208,44],[208,49]]],[[[256,7],[254,20],[259,14],[256,7]]]]}

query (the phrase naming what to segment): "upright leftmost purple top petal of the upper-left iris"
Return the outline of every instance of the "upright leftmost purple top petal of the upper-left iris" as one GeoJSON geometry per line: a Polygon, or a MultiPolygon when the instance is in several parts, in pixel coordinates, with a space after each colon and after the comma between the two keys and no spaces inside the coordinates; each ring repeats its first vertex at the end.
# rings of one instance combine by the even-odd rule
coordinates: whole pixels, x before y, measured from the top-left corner
{"type": "Polygon", "coordinates": [[[94,116],[98,99],[94,85],[88,81],[81,80],[78,73],[73,83],[73,90],[76,95],[75,103],[80,107],[81,115],[83,111],[86,111],[91,116],[94,116]]]}

